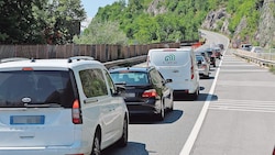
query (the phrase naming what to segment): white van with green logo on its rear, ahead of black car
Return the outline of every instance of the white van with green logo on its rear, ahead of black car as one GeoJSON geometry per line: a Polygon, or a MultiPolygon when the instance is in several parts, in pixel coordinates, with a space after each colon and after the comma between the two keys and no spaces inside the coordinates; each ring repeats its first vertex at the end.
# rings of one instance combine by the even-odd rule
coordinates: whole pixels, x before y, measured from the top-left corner
{"type": "Polygon", "coordinates": [[[193,100],[198,98],[199,71],[193,48],[150,49],[147,66],[155,66],[165,79],[173,79],[168,86],[174,89],[174,97],[189,95],[193,100]]]}

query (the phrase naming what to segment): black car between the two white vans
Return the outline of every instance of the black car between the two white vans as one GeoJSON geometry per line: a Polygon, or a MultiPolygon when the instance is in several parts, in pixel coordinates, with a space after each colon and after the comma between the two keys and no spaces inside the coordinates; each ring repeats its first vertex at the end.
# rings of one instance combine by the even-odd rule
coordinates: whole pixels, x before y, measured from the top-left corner
{"type": "Polygon", "coordinates": [[[174,107],[173,89],[154,67],[123,67],[110,70],[116,86],[124,87],[124,97],[130,115],[154,114],[158,120],[174,107]]]}

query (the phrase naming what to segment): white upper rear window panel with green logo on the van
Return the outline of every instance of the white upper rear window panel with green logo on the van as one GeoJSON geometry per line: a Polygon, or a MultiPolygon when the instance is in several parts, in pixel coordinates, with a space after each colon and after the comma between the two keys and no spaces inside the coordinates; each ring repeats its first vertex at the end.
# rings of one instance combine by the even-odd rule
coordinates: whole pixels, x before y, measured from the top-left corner
{"type": "Polygon", "coordinates": [[[189,60],[188,52],[153,52],[150,60],[156,66],[183,66],[189,60]]]}

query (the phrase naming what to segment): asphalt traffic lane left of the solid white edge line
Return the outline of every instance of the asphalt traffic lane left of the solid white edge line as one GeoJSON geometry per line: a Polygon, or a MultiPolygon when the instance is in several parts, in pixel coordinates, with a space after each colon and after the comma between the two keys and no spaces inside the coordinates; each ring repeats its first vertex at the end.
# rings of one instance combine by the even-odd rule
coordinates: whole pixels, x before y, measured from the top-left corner
{"type": "MultiPolygon", "coordinates": [[[[207,36],[206,36],[207,37],[207,36]]],[[[209,36],[206,46],[213,42],[227,43],[220,36],[209,36]]],[[[218,62],[219,63],[219,62],[218,62]]],[[[218,68],[218,67],[217,67],[218,68]]],[[[127,147],[111,147],[103,155],[179,155],[189,137],[202,107],[211,96],[210,88],[216,79],[217,68],[211,68],[209,79],[201,79],[201,91],[196,101],[174,101],[174,111],[167,113],[164,121],[151,118],[134,118],[129,126],[129,143],[127,147]]],[[[188,142],[190,143],[190,142],[188,142]]]]}

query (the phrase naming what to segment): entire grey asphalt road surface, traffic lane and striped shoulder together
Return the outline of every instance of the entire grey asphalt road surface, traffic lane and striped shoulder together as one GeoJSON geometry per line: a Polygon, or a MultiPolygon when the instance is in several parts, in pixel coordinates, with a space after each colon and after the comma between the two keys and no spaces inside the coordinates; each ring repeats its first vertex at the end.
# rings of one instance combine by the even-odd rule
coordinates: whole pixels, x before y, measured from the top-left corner
{"type": "MultiPolygon", "coordinates": [[[[207,46],[228,40],[202,31],[207,46]]],[[[132,118],[127,147],[103,155],[268,155],[275,136],[275,75],[227,49],[197,101],[174,101],[164,121],[132,118]]]]}

